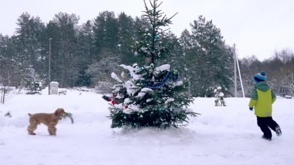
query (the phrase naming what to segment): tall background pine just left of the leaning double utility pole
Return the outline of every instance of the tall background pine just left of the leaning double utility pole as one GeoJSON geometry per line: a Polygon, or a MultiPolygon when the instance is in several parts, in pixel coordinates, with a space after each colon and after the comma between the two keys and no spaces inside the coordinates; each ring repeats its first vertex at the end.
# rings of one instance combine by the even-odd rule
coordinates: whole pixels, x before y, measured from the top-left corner
{"type": "Polygon", "coordinates": [[[199,16],[191,24],[195,52],[193,76],[196,96],[213,96],[215,87],[221,86],[224,92],[232,86],[232,51],[225,45],[220,28],[199,16]]]}

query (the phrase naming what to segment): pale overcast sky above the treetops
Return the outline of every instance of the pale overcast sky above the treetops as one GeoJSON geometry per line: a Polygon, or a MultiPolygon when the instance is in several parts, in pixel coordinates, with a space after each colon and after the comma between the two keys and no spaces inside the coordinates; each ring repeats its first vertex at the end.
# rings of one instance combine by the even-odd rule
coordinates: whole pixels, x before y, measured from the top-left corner
{"type": "MultiPolygon", "coordinates": [[[[23,12],[39,15],[47,23],[58,12],[75,13],[80,24],[101,11],[134,16],[144,10],[143,0],[0,0],[0,33],[14,34],[23,12]]],[[[162,10],[173,19],[172,31],[180,35],[199,15],[221,28],[227,44],[237,45],[239,57],[265,59],[275,50],[294,50],[294,0],[163,0],[162,10]]]]}

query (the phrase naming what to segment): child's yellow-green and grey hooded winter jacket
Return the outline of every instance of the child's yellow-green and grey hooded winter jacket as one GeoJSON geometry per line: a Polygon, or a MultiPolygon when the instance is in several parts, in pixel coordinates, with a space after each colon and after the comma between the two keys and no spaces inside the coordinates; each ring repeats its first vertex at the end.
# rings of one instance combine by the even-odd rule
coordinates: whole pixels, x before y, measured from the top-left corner
{"type": "Polygon", "coordinates": [[[271,117],[272,104],[276,101],[276,94],[266,82],[259,82],[252,89],[249,107],[253,108],[258,117],[271,117]]]}

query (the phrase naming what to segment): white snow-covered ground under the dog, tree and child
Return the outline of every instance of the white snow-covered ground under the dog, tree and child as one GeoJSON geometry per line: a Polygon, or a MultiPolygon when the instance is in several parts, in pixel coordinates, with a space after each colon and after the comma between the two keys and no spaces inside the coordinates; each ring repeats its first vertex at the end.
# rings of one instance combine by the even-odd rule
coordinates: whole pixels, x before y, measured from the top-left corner
{"type": "Polygon", "coordinates": [[[110,128],[101,95],[79,93],[15,95],[0,105],[0,165],[294,165],[293,99],[274,104],[283,135],[265,141],[248,98],[227,98],[228,107],[197,98],[191,107],[202,115],[186,128],[124,130],[110,128]],[[27,134],[28,112],[59,107],[73,113],[74,124],[61,121],[55,137],[44,125],[27,134]]]}

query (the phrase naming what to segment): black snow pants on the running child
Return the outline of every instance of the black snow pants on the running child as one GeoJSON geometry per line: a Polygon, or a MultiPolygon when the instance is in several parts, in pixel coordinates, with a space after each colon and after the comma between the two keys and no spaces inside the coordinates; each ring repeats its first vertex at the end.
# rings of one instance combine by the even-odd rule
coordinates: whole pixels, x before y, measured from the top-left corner
{"type": "Polygon", "coordinates": [[[263,131],[265,138],[272,138],[272,132],[268,127],[276,132],[277,122],[273,120],[272,117],[258,117],[257,116],[257,125],[263,131]]]}

